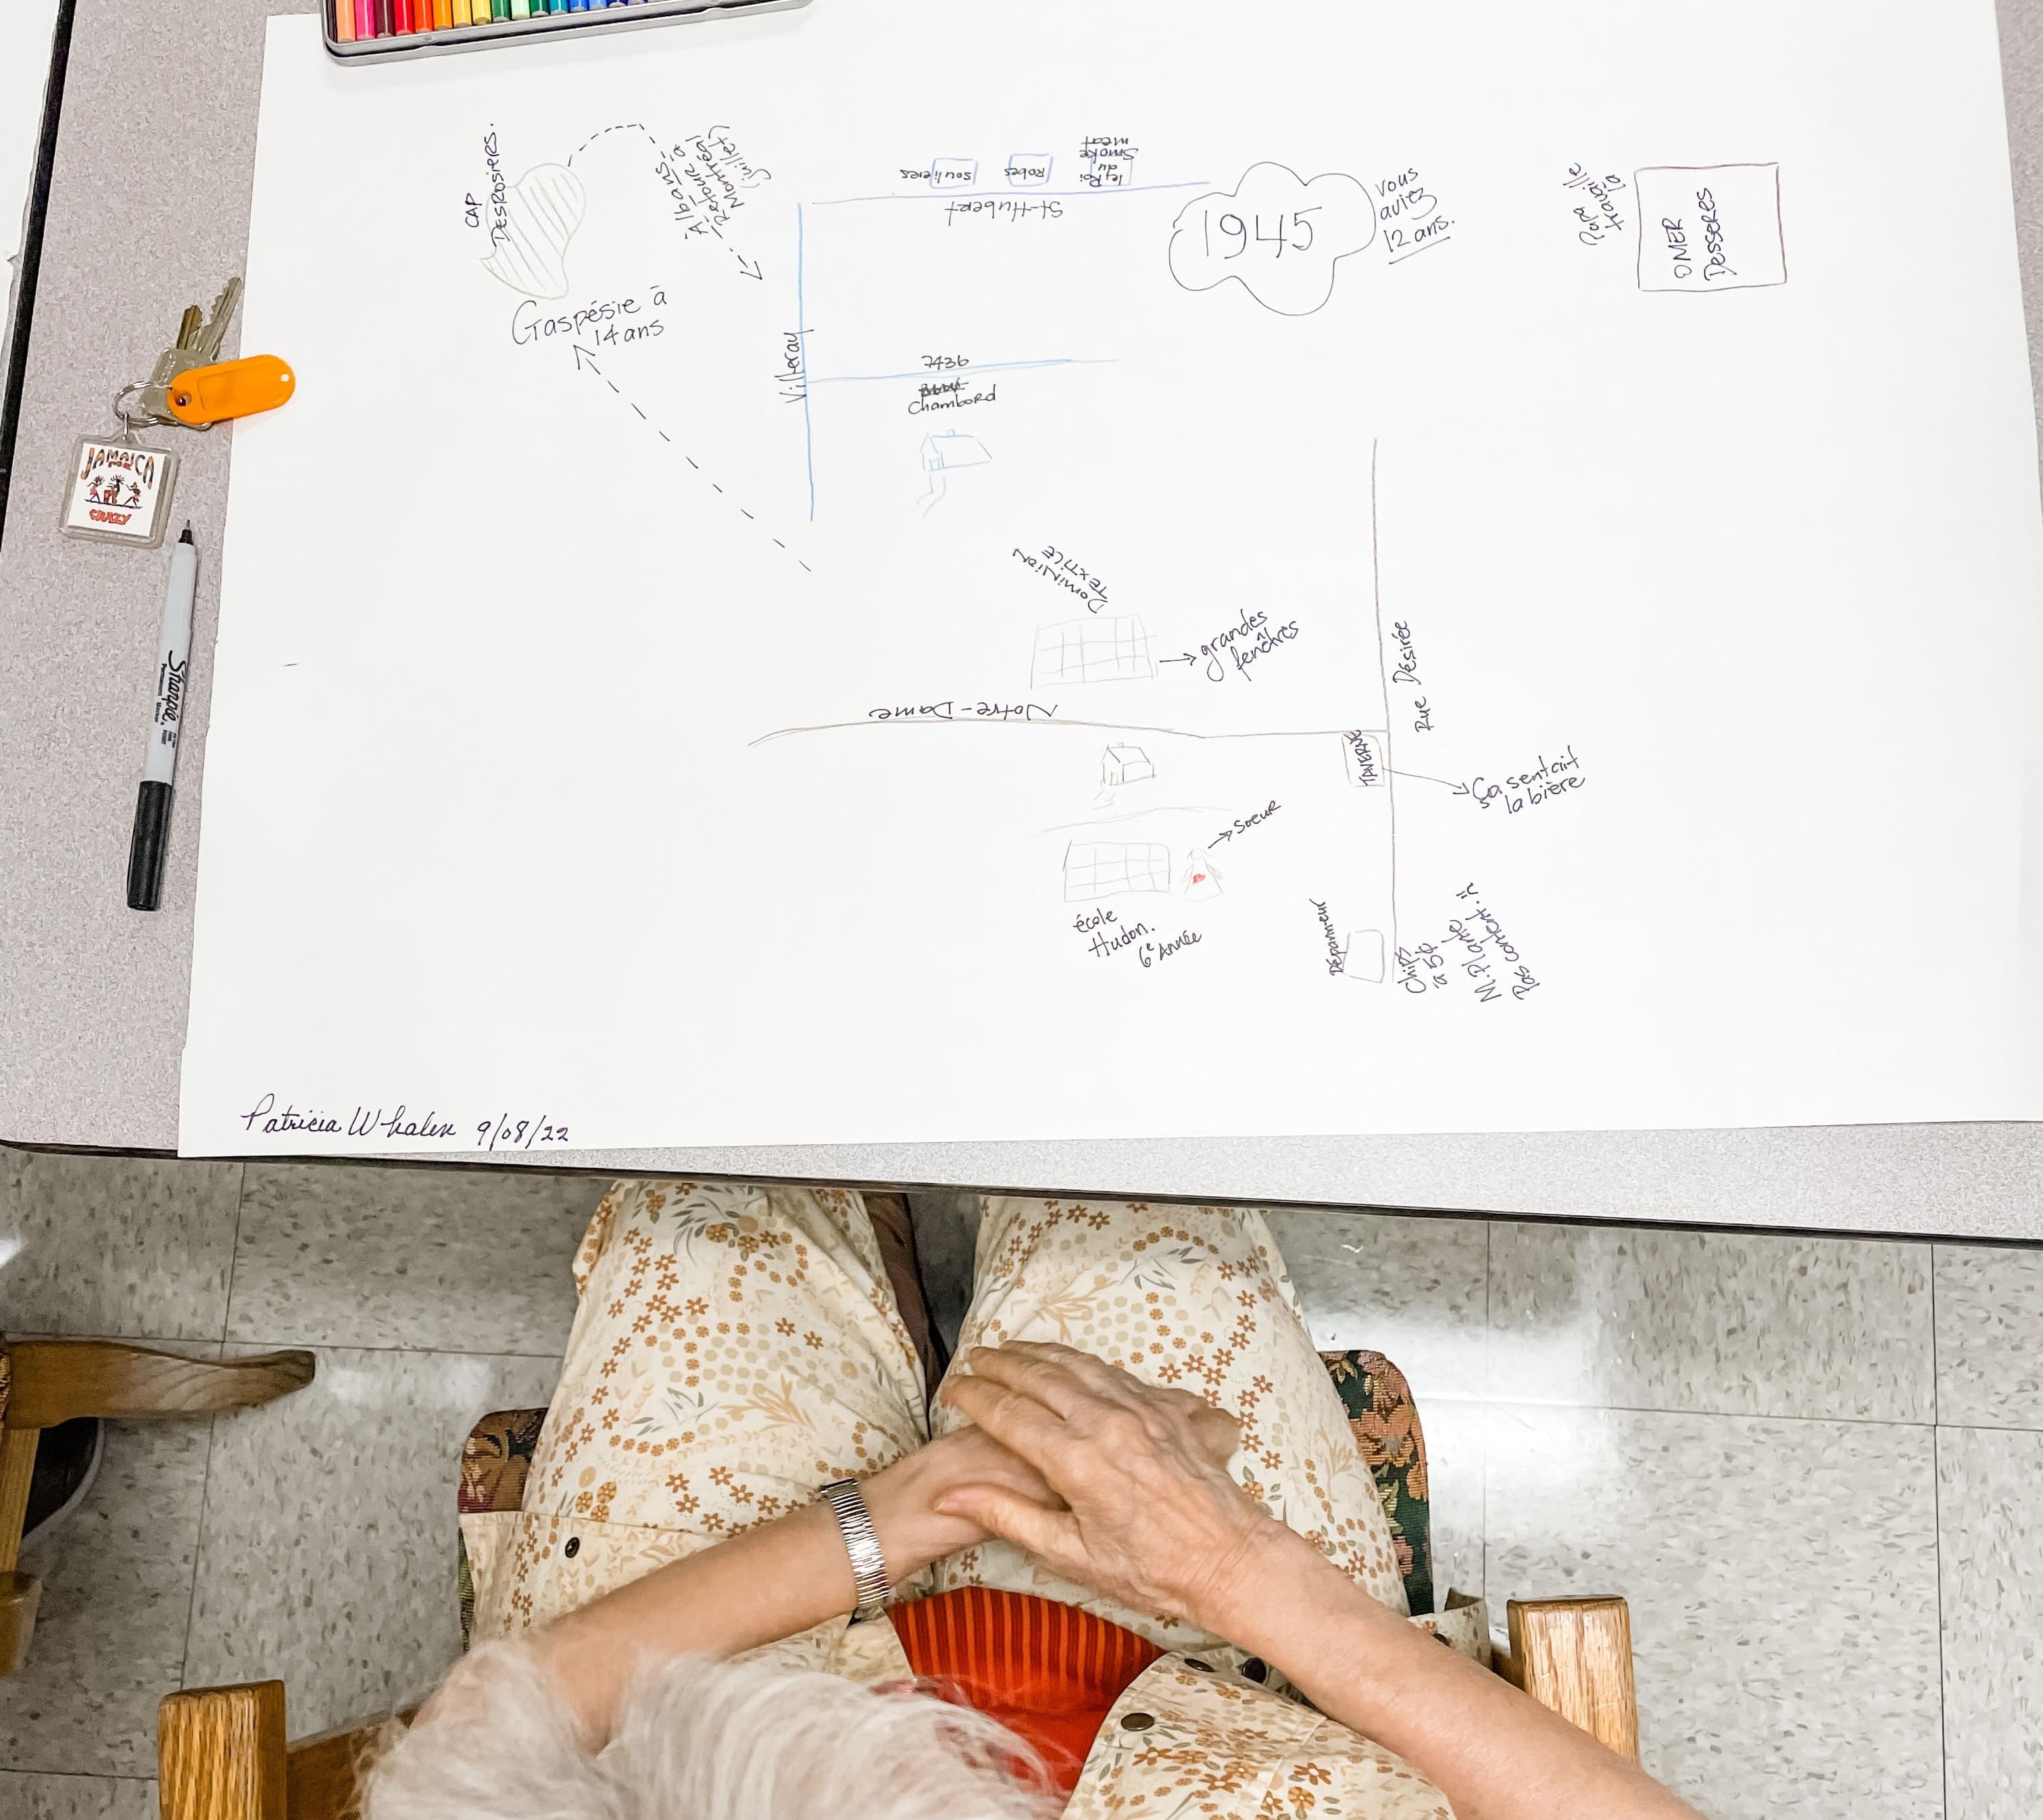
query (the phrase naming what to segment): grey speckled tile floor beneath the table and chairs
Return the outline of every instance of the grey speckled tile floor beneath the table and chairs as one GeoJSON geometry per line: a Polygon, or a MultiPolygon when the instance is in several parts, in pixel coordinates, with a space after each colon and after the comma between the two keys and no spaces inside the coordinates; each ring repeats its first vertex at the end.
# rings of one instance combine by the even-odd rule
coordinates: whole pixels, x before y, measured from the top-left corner
{"type": "MultiPolygon", "coordinates": [[[[0,1332],[311,1346],[217,1422],[112,1424],[25,1567],[0,1820],[153,1812],[178,1685],[304,1734],[452,1659],[454,1463],[543,1403],[590,1177],[0,1152],[0,1332]]],[[[2043,1252],[1283,1209],[1322,1346],[1404,1367],[1436,1581],[1632,1601],[1647,1763],[1714,1820],[2043,1812],[2043,1252]]],[[[917,1197],[940,1324],[970,1215],[917,1197]]]]}

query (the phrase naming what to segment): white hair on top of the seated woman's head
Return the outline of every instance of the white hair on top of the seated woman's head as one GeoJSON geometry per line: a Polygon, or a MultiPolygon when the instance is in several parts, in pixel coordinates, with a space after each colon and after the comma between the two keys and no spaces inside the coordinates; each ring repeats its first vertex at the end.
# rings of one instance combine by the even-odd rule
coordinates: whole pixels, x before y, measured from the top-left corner
{"type": "Polygon", "coordinates": [[[386,1734],[362,1820],[1050,1820],[1030,1746],[913,1683],[770,1661],[646,1669],[590,1751],[521,1642],[462,1661],[431,1718],[386,1734]]]}

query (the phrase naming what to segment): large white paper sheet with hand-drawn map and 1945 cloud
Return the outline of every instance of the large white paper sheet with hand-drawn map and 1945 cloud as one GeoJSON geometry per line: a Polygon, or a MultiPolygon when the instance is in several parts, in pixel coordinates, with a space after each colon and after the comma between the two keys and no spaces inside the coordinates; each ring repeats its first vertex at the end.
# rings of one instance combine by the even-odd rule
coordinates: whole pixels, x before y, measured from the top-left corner
{"type": "Polygon", "coordinates": [[[270,22],[182,1148],[2043,1113],[1988,0],[270,22]]]}

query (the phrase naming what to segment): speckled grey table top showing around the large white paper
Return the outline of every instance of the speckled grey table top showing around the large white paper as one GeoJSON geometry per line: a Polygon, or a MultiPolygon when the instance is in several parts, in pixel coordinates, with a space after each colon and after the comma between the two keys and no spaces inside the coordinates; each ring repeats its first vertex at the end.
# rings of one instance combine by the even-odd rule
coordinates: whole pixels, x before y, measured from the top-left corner
{"type": "MultiPolygon", "coordinates": [[[[161,566],[59,537],[57,492],[72,441],[106,427],[112,388],[147,370],[186,302],[243,270],[262,22],[282,10],[300,8],[78,4],[0,545],[0,1140],[12,1144],[176,1146],[217,580],[206,566],[163,907],[135,915],[123,878],[161,566]]],[[[2043,0],[2002,0],[2000,29],[2043,366],[2043,0]]],[[[392,451],[405,437],[392,419],[392,451]]],[[[225,431],[180,437],[178,515],[206,549],[219,547],[229,447],[225,431]]],[[[2043,1125],[889,1144],[550,1164],[2043,1240],[2043,1125]]]]}

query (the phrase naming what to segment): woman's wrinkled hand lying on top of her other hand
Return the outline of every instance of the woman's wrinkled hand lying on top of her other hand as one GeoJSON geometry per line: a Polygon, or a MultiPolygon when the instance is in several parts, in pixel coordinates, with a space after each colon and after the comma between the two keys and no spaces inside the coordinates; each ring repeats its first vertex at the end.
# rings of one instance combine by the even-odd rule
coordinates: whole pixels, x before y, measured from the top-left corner
{"type": "Polygon", "coordinates": [[[944,1491],[938,1512],[1064,1579],[1220,1634],[1271,1565],[1322,1563],[1228,1477],[1240,1426],[1201,1397],[1071,1346],[979,1346],[968,1364],[944,1401],[1034,1467],[1056,1503],[975,1481],[944,1491]]]}

